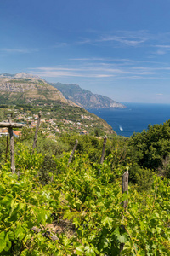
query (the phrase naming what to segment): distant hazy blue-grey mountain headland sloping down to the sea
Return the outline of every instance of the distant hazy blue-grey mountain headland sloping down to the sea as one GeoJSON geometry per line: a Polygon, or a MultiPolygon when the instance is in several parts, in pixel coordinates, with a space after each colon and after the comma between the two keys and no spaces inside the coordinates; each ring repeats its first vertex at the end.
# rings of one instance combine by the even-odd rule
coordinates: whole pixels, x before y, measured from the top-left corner
{"type": "Polygon", "coordinates": [[[82,108],[126,108],[109,97],[93,94],[90,90],[84,90],[77,84],[50,84],[60,90],[66,99],[75,102],[82,108]]]}

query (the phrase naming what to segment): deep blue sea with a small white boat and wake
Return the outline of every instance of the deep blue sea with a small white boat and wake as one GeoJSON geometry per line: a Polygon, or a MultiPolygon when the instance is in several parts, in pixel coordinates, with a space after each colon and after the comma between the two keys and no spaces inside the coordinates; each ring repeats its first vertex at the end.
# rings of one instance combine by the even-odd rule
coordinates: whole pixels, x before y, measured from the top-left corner
{"type": "Polygon", "coordinates": [[[134,132],[148,129],[148,125],[163,124],[170,119],[170,104],[123,103],[127,108],[88,108],[104,119],[118,135],[131,137],[134,132]]]}

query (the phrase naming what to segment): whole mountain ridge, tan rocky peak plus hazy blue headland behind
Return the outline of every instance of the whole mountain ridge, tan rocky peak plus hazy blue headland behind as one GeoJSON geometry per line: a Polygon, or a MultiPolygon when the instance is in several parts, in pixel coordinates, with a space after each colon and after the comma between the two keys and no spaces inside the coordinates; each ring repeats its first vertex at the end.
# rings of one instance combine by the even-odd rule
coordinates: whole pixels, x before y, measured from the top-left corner
{"type": "MultiPolygon", "coordinates": [[[[126,108],[126,106],[124,106],[122,103],[116,102],[107,96],[94,94],[90,90],[82,89],[78,84],[62,84],[59,82],[48,83],[48,81],[38,77],[37,75],[30,74],[30,73],[23,73],[23,72],[15,73],[15,74],[10,74],[10,73],[0,74],[0,90],[1,91],[2,90],[8,91],[8,92],[12,91],[14,93],[14,87],[15,89],[17,87],[15,84],[19,85],[18,90],[20,90],[19,88],[22,88],[20,92],[22,92],[23,95],[25,95],[24,97],[26,99],[28,99],[29,97],[48,99],[51,97],[52,100],[58,100],[61,102],[71,104],[73,106],[74,105],[79,106],[81,108],[126,108]],[[2,81],[3,81],[3,84],[2,84],[2,81]],[[36,84],[39,83],[39,84],[38,86],[36,86],[36,88],[35,86],[33,86],[33,84],[31,84],[29,88],[29,86],[26,87],[26,82],[27,82],[27,85],[30,83],[33,83],[34,85],[35,83],[36,84]],[[40,96],[38,96],[37,91],[40,92],[44,90],[44,88],[42,89],[40,88],[41,84],[43,84],[43,87],[44,86],[46,87],[46,90],[49,89],[48,86],[50,85],[53,86],[53,89],[51,88],[50,90],[55,89],[54,93],[51,94],[51,96],[48,96],[48,92],[46,96],[45,94],[42,95],[42,93],[40,93],[40,96]],[[28,91],[30,91],[30,93],[28,91]],[[58,96],[56,96],[56,94],[58,96]]],[[[9,98],[10,96],[11,94],[9,94],[9,98]]]]}

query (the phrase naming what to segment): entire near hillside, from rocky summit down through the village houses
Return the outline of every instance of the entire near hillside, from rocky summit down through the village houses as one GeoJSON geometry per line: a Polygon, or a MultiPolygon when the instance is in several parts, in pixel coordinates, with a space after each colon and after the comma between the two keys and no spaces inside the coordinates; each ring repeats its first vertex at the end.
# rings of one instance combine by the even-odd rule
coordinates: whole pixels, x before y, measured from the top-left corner
{"type": "Polygon", "coordinates": [[[45,80],[26,73],[0,75],[0,120],[13,113],[14,119],[20,117],[34,127],[33,114],[39,111],[42,111],[44,126],[50,134],[72,131],[102,136],[116,133],[105,120],[65,99],[45,80]]]}

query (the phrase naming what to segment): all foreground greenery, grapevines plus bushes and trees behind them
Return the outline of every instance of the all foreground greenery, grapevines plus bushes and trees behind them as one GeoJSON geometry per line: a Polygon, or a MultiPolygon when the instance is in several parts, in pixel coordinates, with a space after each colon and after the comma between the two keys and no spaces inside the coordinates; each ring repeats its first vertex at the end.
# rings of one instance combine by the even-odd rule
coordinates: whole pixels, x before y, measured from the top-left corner
{"type": "Polygon", "coordinates": [[[0,138],[0,255],[170,255],[168,122],[108,140],[102,162],[98,138],[78,137],[69,162],[75,135],[52,142],[39,131],[32,152],[29,134],[14,138],[14,173],[0,138]]]}

